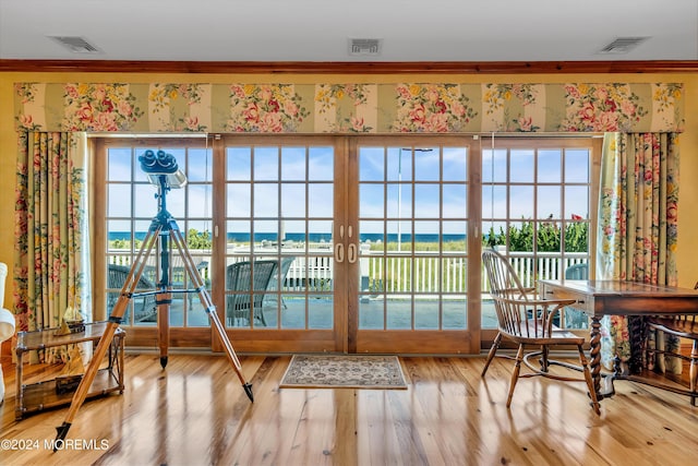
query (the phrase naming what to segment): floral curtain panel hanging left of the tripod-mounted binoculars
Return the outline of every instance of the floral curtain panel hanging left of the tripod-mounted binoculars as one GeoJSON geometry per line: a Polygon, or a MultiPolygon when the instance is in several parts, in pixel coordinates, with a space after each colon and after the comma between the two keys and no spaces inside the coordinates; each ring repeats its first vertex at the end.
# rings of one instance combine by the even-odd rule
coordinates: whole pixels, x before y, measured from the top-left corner
{"type": "MultiPolygon", "coordinates": [[[[17,331],[92,316],[85,133],[19,134],[14,309],[17,331]]],[[[50,361],[48,361],[50,362],[50,361]]]]}

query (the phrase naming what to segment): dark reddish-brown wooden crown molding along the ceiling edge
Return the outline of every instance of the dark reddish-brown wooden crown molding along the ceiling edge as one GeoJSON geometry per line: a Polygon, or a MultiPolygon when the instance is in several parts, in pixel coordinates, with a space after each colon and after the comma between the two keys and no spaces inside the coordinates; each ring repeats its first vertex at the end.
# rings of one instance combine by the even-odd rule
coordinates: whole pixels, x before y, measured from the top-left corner
{"type": "Polygon", "coordinates": [[[5,60],[0,72],[188,74],[565,74],[693,73],[698,60],[657,61],[129,61],[5,60]]]}

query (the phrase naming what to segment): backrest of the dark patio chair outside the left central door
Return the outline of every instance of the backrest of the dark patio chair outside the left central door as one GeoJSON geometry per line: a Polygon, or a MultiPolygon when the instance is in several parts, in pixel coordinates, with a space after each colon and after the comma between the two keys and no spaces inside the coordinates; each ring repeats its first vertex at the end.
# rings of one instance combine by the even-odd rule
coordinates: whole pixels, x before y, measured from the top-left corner
{"type": "Polygon", "coordinates": [[[251,302],[253,308],[261,308],[264,292],[276,270],[277,261],[272,260],[254,261],[254,263],[241,261],[228,265],[226,289],[234,291],[228,296],[228,310],[250,309],[251,302]],[[250,300],[250,291],[253,292],[253,301],[250,300]]]}

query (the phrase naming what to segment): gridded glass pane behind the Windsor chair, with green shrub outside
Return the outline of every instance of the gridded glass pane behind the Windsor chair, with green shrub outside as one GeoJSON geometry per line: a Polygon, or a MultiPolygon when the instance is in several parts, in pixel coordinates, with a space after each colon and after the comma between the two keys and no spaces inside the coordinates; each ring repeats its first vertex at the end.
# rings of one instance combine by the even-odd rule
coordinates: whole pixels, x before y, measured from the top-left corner
{"type": "MultiPolygon", "coordinates": [[[[525,287],[589,276],[593,153],[589,138],[500,138],[483,146],[484,242],[508,258],[525,287]]],[[[482,328],[496,328],[489,285],[482,285],[482,328]]],[[[562,314],[557,325],[588,325],[579,311],[562,314]]]]}

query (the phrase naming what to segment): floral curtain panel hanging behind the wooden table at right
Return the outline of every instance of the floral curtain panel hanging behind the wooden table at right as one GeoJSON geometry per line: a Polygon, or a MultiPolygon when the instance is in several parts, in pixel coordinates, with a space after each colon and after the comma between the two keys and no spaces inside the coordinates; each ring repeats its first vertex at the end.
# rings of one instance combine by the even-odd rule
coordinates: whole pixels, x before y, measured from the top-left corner
{"type": "MultiPolygon", "coordinates": [[[[647,284],[677,283],[676,230],[678,204],[678,144],[675,133],[606,134],[601,163],[597,278],[647,284]]],[[[642,361],[641,322],[625,316],[602,321],[601,360],[613,368],[619,358],[623,370],[642,365],[676,371],[676,358],[642,361]],[[635,325],[637,324],[637,325],[635,325]]],[[[665,349],[678,340],[666,338],[665,349]]]]}

